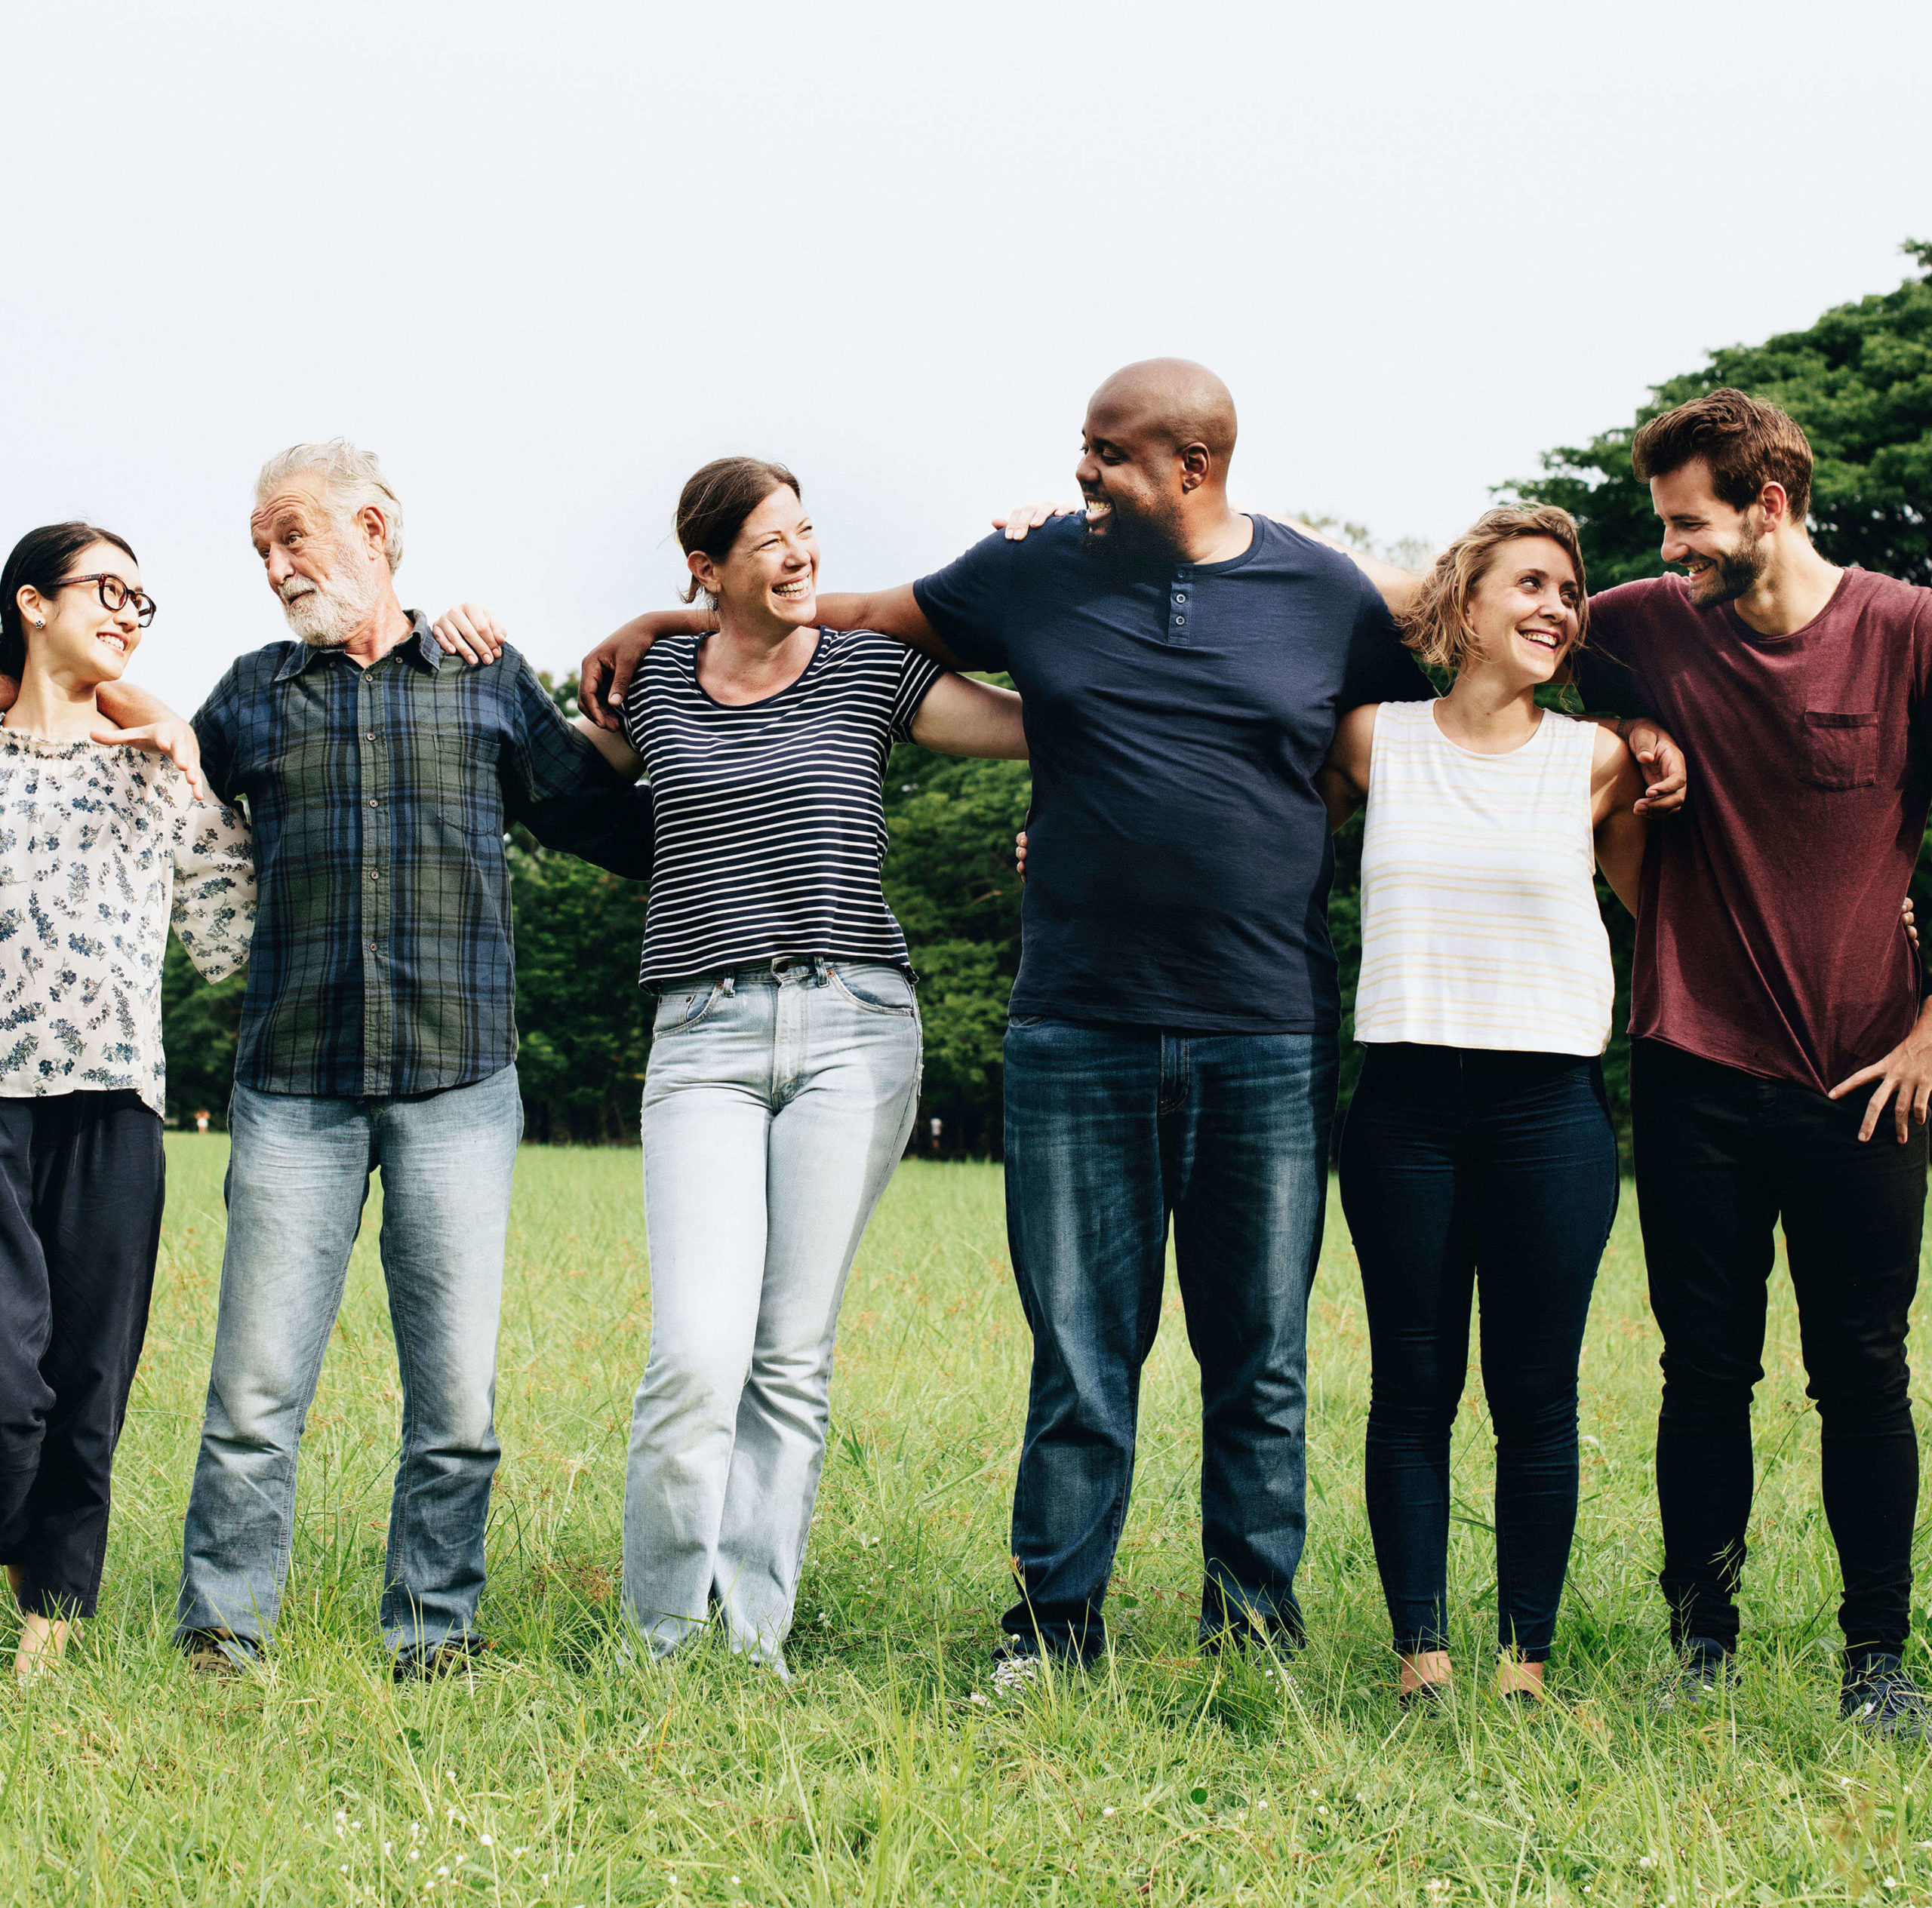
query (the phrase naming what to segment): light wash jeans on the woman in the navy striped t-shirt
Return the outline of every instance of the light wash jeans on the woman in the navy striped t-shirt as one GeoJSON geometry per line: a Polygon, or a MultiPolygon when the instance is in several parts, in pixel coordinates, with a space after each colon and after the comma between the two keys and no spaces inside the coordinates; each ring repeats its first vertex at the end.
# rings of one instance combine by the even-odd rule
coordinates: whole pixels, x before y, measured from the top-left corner
{"type": "Polygon", "coordinates": [[[773,962],[667,987],[643,1080],[651,1356],[624,1603],[657,1655],[713,1603],[781,1674],[846,1273],[920,1099],[898,968],[773,962]]]}

